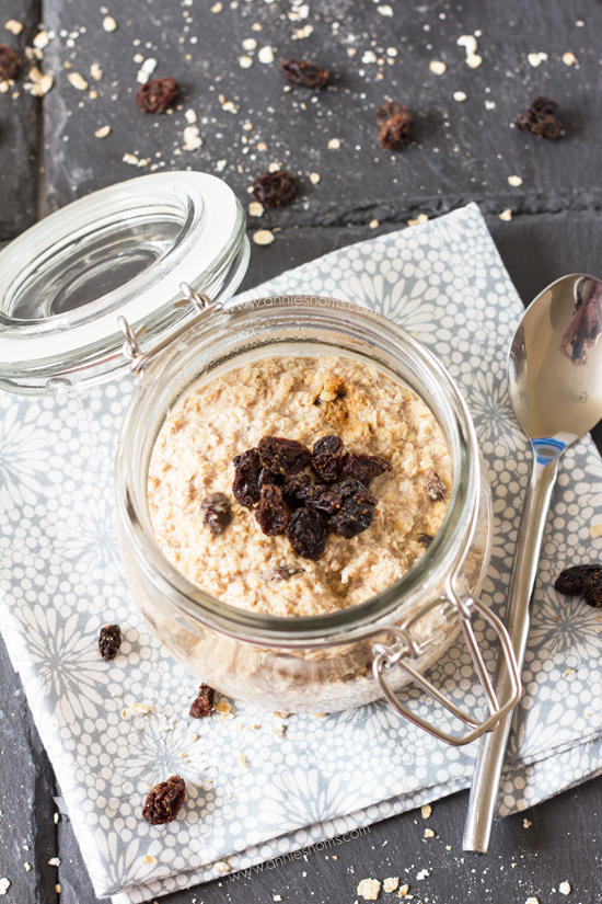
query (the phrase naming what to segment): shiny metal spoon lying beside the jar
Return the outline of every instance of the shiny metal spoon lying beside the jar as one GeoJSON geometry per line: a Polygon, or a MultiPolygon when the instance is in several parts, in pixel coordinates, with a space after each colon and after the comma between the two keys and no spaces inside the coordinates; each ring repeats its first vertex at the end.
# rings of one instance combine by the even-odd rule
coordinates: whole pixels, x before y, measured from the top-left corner
{"type": "MultiPolygon", "coordinates": [[[[545,522],[564,450],[602,416],[602,283],[572,274],[552,283],[523,314],[508,356],[508,391],[531,439],[533,470],[510,579],[506,627],[519,668],[545,522]]],[[[494,678],[500,702],[510,695],[500,656],[494,678]]],[[[483,735],[464,828],[464,850],[486,854],[512,713],[483,735]]]]}

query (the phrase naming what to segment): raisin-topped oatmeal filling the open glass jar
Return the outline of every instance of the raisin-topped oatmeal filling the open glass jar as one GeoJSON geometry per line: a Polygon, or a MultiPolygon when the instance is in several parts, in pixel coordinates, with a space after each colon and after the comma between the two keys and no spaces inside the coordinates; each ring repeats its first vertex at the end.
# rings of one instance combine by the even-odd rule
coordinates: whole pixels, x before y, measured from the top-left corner
{"type": "Polygon", "coordinates": [[[154,445],[149,512],[201,590],[312,616],[402,577],[443,522],[451,477],[413,390],[350,358],[274,356],[183,396],[154,445]]]}

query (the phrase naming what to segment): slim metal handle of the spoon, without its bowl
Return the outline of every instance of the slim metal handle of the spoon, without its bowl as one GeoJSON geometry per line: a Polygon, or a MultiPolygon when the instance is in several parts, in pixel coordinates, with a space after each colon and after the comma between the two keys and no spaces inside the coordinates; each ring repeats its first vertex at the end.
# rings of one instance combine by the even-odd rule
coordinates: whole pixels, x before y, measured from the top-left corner
{"type": "MultiPolygon", "coordinates": [[[[531,600],[559,460],[558,455],[548,464],[543,464],[535,455],[531,482],[522,510],[506,617],[506,628],[514,648],[519,670],[522,668],[524,660],[531,620],[531,600]]],[[[494,687],[500,703],[508,699],[511,690],[503,656],[498,657],[494,687]]],[[[509,712],[495,729],[481,739],[464,826],[464,850],[487,854],[511,724],[512,712],[509,712]]]]}

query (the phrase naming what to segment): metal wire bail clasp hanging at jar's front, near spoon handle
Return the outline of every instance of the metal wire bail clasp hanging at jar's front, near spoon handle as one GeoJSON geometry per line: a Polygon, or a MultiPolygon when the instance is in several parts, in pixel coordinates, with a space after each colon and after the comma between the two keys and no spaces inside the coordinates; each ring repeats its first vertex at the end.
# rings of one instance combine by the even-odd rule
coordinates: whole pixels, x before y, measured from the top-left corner
{"type": "MultiPolygon", "coordinates": [[[[491,729],[507,716],[518,703],[521,694],[521,682],[517,657],[512,649],[512,642],[508,636],[503,622],[494,615],[493,611],[476,596],[471,594],[456,594],[451,587],[448,587],[448,597],[433,599],[419,606],[412,615],[409,615],[398,627],[390,625],[384,630],[394,636],[395,642],[392,646],[385,646],[382,643],[375,643],[372,646],[374,653],[374,662],[372,671],[377,684],[386,697],[393,709],[418,728],[424,729],[433,737],[444,741],[454,747],[470,744],[471,741],[479,737],[484,732],[491,731],[491,729]],[[448,699],[441,691],[435,687],[431,682],[425,678],[416,668],[410,665],[412,660],[417,660],[420,653],[424,652],[412,637],[412,627],[415,626],[425,615],[435,607],[441,607],[440,610],[450,621],[458,618],[460,628],[466,641],[466,645],[471,653],[471,657],[478,675],[481,686],[487,699],[489,716],[486,719],[478,720],[471,713],[464,712],[460,707],[448,699]],[[511,696],[508,700],[500,703],[496,697],[490,675],[487,666],[483,661],[478,643],[474,634],[474,629],[471,622],[473,611],[478,613],[496,631],[498,636],[501,654],[506,659],[508,672],[510,676],[511,696]],[[455,716],[464,724],[470,726],[470,731],[463,735],[456,736],[449,734],[436,725],[431,725],[426,719],[422,719],[415,712],[412,712],[405,707],[396,696],[395,691],[389,684],[386,678],[387,673],[392,668],[401,668],[412,680],[418,685],[426,694],[431,696],[438,703],[443,706],[452,716],[455,716]]],[[[425,645],[425,644],[424,644],[425,645]]]]}

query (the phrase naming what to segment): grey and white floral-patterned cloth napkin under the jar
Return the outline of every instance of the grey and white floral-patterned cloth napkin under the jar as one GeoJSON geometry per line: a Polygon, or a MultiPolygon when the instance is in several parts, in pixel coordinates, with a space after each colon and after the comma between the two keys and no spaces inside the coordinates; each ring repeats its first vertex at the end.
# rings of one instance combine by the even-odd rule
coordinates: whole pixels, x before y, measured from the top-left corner
{"type": "MultiPolygon", "coordinates": [[[[374,308],[458,381],[495,499],[482,596],[503,614],[530,462],[505,382],[523,308],[478,208],[327,254],[235,300],[290,291],[374,308]]],[[[448,747],[383,702],[282,720],[231,701],[231,718],[188,718],[197,682],[149,631],[119,560],[113,462],[132,387],[128,377],[68,397],[0,394],[0,626],[96,894],[148,901],[468,787],[476,743],[448,747]],[[96,645],[107,622],[124,632],[113,663],[96,645]],[[148,788],[173,774],[188,800],[176,822],[151,827],[140,819],[148,788]]],[[[564,456],[547,523],[499,815],[602,771],[601,616],[553,588],[563,568],[601,550],[602,461],[587,437],[564,456]]],[[[486,642],[483,622],[476,631],[486,642]]],[[[432,678],[459,676],[478,702],[467,665],[459,643],[432,678]]],[[[417,689],[406,696],[451,728],[417,689]]]]}

